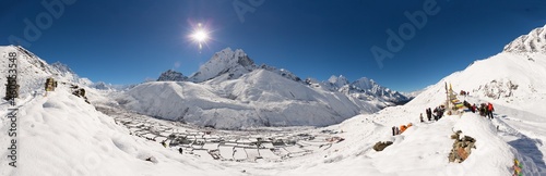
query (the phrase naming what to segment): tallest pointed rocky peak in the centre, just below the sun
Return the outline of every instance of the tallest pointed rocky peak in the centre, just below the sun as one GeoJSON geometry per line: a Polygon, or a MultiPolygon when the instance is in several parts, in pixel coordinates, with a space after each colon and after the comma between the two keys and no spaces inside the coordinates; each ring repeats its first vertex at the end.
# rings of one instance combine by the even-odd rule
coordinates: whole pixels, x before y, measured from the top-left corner
{"type": "Polygon", "coordinates": [[[229,74],[229,78],[238,78],[242,74],[249,73],[254,68],[254,61],[252,61],[245,51],[241,49],[233,51],[230,48],[226,48],[216,52],[211,60],[201,65],[199,71],[192,74],[189,79],[200,83],[224,74],[229,74]]]}

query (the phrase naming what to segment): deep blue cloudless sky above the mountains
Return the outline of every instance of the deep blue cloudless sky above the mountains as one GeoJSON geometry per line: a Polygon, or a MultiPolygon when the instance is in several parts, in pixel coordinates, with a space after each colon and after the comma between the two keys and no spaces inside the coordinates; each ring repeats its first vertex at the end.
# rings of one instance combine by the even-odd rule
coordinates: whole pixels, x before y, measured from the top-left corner
{"type": "Polygon", "coordinates": [[[10,36],[20,38],[47,62],[66,63],[94,81],[136,84],[169,68],[190,75],[230,47],[302,78],[369,77],[413,91],[546,25],[546,1],[2,0],[0,24],[0,45],[9,45],[10,36]],[[52,14],[41,2],[62,4],[54,7],[62,13],[52,14]],[[237,10],[247,12],[238,15],[237,10]],[[427,22],[418,28],[405,12],[425,12],[427,22]],[[25,36],[28,23],[41,24],[40,34],[25,36]],[[188,38],[197,23],[211,30],[202,51],[188,38]],[[397,34],[401,26],[407,40],[391,52],[387,30],[397,34]],[[373,46],[392,54],[382,66],[370,51],[373,46]]]}

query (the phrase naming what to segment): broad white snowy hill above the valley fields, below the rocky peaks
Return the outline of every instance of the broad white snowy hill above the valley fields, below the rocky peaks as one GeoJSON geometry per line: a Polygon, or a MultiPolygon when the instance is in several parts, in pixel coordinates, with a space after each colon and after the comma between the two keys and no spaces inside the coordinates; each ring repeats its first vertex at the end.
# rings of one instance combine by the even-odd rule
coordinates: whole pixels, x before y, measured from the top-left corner
{"type": "Polygon", "coordinates": [[[136,112],[217,128],[325,126],[376,112],[380,104],[313,89],[266,70],[234,80],[146,83],[126,95],[118,101],[136,112]]]}

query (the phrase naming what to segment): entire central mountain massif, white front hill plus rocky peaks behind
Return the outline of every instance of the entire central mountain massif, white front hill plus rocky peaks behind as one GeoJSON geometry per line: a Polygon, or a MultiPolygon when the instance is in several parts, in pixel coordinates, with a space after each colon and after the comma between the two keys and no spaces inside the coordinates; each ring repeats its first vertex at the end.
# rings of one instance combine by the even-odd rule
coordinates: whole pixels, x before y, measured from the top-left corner
{"type": "Polygon", "coordinates": [[[175,71],[127,91],[119,101],[133,111],[218,128],[327,126],[406,100],[361,78],[332,77],[312,84],[286,70],[254,65],[242,51],[215,53],[189,78],[175,71]],[[187,80],[187,81],[181,81],[187,80]]]}

